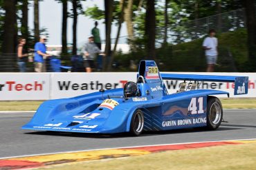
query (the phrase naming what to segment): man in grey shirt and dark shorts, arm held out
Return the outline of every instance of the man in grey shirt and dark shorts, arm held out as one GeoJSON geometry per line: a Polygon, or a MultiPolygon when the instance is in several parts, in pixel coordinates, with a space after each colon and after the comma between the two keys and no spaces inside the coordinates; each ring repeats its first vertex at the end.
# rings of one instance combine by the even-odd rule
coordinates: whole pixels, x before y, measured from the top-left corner
{"type": "Polygon", "coordinates": [[[94,61],[98,54],[102,53],[100,48],[94,43],[93,38],[93,35],[88,36],[89,41],[84,47],[84,67],[86,72],[91,72],[91,70],[95,68],[94,61]]]}

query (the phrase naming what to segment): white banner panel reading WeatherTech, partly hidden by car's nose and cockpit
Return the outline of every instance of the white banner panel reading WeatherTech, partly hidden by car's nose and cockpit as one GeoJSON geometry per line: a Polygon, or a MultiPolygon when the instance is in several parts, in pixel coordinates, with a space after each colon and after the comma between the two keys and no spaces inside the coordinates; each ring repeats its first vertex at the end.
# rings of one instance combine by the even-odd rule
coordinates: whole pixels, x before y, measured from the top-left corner
{"type": "Polygon", "coordinates": [[[68,98],[124,87],[136,81],[136,73],[62,73],[51,76],[51,98],[68,98]]]}

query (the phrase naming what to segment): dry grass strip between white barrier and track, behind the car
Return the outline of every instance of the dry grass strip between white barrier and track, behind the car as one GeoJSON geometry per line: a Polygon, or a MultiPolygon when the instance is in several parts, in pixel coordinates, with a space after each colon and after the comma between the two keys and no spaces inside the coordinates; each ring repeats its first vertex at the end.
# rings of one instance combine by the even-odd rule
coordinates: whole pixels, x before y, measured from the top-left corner
{"type": "MultiPolygon", "coordinates": [[[[0,101],[0,111],[28,111],[37,110],[40,101],[0,101]]],[[[223,98],[224,109],[255,109],[256,98],[223,98]]]]}

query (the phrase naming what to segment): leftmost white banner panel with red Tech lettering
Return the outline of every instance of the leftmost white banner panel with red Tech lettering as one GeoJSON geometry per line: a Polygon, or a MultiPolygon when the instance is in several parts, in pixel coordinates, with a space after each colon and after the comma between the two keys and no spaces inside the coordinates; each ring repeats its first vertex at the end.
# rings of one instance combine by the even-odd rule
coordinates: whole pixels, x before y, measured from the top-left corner
{"type": "Polygon", "coordinates": [[[0,100],[48,100],[50,76],[47,73],[1,73],[0,100]]]}

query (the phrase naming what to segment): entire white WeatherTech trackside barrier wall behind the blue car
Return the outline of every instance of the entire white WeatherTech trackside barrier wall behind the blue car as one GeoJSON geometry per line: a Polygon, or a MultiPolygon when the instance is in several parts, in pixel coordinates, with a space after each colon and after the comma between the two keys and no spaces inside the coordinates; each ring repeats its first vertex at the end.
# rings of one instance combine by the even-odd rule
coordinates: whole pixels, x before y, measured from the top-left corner
{"type": "MultiPolygon", "coordinates": [[[[167,73],[167,72],[165,72],[167,73]]],[[[136,72],[111,73],[0,73],[0,100],[49,100],[70,98],[99,89],[121,88],[127,81],[136,81],[136,72]]],[[[230,97],[256,97],[256,73],[187,73],[226,76],[249,76],[248,94],[234,96],[234,83],[203,82],[200,88],[230,92],[230,97]]],[[[179,89],[183,81],[165,80],[170,94],[179,89]]],[[[226,97],[226,96],[219,96],[226,97]]]]}

